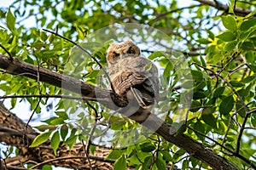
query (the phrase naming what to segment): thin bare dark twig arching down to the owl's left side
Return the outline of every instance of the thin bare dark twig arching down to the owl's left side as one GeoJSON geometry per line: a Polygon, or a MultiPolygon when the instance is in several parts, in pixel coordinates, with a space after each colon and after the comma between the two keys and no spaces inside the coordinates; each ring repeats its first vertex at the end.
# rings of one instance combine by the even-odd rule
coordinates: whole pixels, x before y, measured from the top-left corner
{"type": "Polygon", "coordinates": [[[108,76],[107,71],[102,67],[102,65],[99,63],[99,61],[98,61],[92,54],[90,54],[86,49],[84,49],[82,46],[80,46],[79,43],[73,42],[72,40],[68,39],[67,37],[63,37],[63,36],[61,36],[60,34],[58,34],[57,30],[54,32],[54,31],[49,31],[49,30],[43,29],[43,31],[49,32],[49,33],[51,33],[51,34],[54,34],[54,35],[57,36],[57,37],[61,37],[62,39],[66,40],[67,42],[73,43],[75,46],[77,46],[77,47],[80,48],[82,51],[84,51],[84,53],[88,54],[88,55],[90,56],[90,58],[93,59],[93,60],[96,62],[97,65],[100,66],[100,68],[101,68],[102,71],[104,72],[105,76],[108,78],[108,82],[109,82],[110,87],[111,87],[111,89],[112,89],[112,91],[113,91],[113,94],[116,94],[115,91],[114,91],[114,88],[113,88],[113,84],[112,84],[112,82],[111,82],[111,80],[110,80],[110,77],[108,76]]]}

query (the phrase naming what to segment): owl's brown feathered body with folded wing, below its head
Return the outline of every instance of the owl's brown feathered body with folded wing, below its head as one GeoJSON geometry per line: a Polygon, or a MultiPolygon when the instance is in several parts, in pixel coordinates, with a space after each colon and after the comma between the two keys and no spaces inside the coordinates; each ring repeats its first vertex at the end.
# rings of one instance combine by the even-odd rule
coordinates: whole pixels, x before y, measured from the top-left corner
{"type": "Polygon", "coordinates": [[[111,77],[116,93],[124,96],[131,90],[143,108],[153,105],[159,94],[156,66],[144,57],[120,59],[115,66],[111,77]]]}

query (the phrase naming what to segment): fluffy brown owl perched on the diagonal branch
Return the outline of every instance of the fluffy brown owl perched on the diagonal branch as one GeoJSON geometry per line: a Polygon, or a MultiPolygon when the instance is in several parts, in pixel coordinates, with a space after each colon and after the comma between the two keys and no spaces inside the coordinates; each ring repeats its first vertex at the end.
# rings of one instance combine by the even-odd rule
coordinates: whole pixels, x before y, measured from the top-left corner
{"type": "Polygon", "coordinates": [[[136,99],[143,109],[151,108],[159,98],[157,67],[141,55],[131,40],[111,43],[107,61],[115,93],[136,99]]]}

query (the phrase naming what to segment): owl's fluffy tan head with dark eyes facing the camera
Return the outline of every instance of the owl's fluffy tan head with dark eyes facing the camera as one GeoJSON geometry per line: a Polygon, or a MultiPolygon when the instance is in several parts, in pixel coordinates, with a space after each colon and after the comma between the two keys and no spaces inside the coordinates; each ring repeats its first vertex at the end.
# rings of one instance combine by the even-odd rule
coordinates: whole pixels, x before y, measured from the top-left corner
{"type": "Polygon", "coordinates": [[[140,49],[129,39],[125,42],[111,43],[108,48],[108,64],[114,65],[119,59],[137,57],[141,54],[140,49]]]}

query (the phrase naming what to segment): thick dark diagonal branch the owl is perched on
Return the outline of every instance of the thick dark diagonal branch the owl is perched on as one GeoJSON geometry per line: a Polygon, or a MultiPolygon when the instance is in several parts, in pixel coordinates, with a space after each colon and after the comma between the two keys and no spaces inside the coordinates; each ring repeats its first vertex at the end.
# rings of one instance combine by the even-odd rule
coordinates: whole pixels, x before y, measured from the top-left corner
{"type": "MultiPolygon", "coordinates": [[[[37,71],[38,67],[35,65],[26,64],[19,59],[9,59],[6,56],[0,54],[0,68],[7,71],[9,74],[21,74],[26,77],[31,77],[37,80],[37,71]],[[30,73],[30,74],[24,74],[30,73]],[[32,76],[34,75],[34,76],[32,76]]],[[[101,96],[97,95],[99,99],[105,99],[104,101],[99,100],[102,105],[105,105],[109,109],[116,110],[118,107],[113,104],[111,99],[108,99],[107,96],[111,95],[114,103],[119,104],[123,102],[116,96],[114,96],[108,90],[96,88],[90,84],[80,82],[71,77],[61,76],[58,73],[53,71],[48,71],[44,68],[39,69],[40,81],[47,82],[51,85],[55,85],[59,88],[65,88],[67,90],[73,91],[75,93],[82,93],[84,96],[95,97],[96,90],[102,94],[101,96]],[[63,86],[65,84],[65,86],[63,86]]],[[[149,113],[148,113],[149,114],[149,113]]],[[[132,119],[132,117],[131,117],[132,119]]],[[[184,134],[175,134],[173,135],[173,127],[167,124],[166,122],[161,121],[158,117],[150,114],[147,118],[147,122],[143,123],[143,126],[146,126],[151,129],[157,129],[156,133],[162,136],[172,144],[176,144],[178,147],[186,150],[190,156],[195,157],[196,159],[206,163],[211,166],[213,169],[237,169],[237,167],[233,166],[229,161],[227,161],[224,157],[218,156],[212,150],[209,150],[206,146],[198,143],[194,139],[190,139],[189,136],[184,134]]],[[[38,150],[42,148],[38,147],[38,150]]],[[[61,149],[60,149],[61,150],[61,149]]],[[[65,150],[65,149],[64,149],[65,150]]],[[[40,151],[42,152],[42,151],[40,151]]]]}

